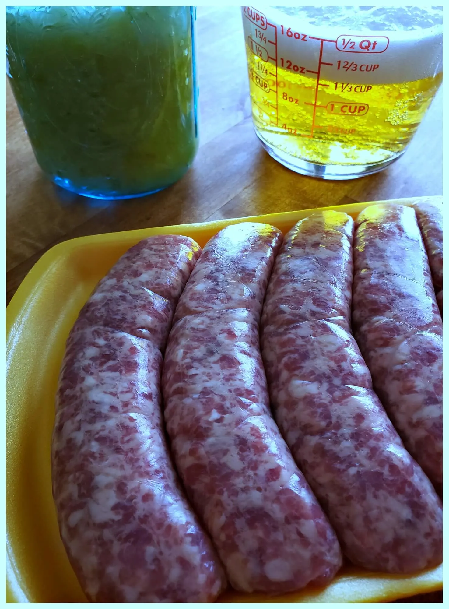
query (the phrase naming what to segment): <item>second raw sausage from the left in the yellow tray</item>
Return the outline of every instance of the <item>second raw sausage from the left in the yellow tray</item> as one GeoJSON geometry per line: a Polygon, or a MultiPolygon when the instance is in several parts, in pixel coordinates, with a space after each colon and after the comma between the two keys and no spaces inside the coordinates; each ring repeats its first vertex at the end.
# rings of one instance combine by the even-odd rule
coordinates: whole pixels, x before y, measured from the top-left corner
{"type": "Polygon", "coordinates": [[[237,590],[283,593],[338,571],[335,533],[271,417],[260,310],[280,233],[242,223],[206,245],[165,352],[176,466],[237,590]]]}

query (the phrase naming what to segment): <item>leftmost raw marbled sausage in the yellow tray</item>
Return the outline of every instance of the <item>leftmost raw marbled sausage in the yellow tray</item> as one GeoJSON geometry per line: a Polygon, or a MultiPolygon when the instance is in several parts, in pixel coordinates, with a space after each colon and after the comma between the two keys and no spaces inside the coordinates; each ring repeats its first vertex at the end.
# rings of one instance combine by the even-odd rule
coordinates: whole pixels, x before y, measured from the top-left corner
{"type": "Polygon", "coordinates": [[[179,485],[161,412],[161,349],[199,253],[185,237],[137,244],[68,339],[53,493],[69,560],[94,602],[210,602],[226,584],[179,485]]]}

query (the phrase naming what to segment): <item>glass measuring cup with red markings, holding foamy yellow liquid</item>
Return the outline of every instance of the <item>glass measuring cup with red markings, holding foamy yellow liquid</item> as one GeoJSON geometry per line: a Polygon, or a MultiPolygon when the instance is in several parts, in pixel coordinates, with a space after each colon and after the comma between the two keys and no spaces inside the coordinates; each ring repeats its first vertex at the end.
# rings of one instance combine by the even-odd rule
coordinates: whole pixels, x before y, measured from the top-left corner
{"type": "Polygon", "coordinates": [[[344,180],[403,152],[442,81],[442,7],[242,7],[252,118],[300,174],[344,180]]]}

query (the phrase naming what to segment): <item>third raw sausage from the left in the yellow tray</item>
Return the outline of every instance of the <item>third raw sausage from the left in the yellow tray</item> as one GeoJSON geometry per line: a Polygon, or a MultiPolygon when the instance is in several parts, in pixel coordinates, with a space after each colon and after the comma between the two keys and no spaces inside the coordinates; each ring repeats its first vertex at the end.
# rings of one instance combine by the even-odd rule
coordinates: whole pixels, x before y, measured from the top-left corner
{"type": "Polygon", "coordinates": [[[352,219],[334,211],[287,234],[263,306],[263,362],[277,424],[344,553],[413,572],[442,560],[442,509],[350,333],[352,238],[352,219]]]}

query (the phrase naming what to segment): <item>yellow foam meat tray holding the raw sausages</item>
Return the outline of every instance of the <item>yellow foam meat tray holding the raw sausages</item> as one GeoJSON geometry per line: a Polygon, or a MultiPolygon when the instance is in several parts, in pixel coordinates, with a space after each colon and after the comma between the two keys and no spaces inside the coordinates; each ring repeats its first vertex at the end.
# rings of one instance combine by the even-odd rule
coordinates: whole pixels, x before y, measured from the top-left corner
{"type": "MultiPolygon", "coordinates": [[[[394,203],[432,198],[441,200],[394,203]]],[[[371,204],[319,211],[356,217],[371,204]]],[[[285,232],[313,211],[318,209],[72,239],[51,248],[30,270],[7,307],[7,602],[86,602],[58,532],[50,440],[65,341],[97,281],[128,248],[153,234],[185,234],[203,246],[229,224],[266,222],[285,232]]],[[[441,588],[442,565],[414,576],[344,567],[326,588],[308,586],[282,597],[229,591],[218,602],[388,602],[441,588]]]]}

